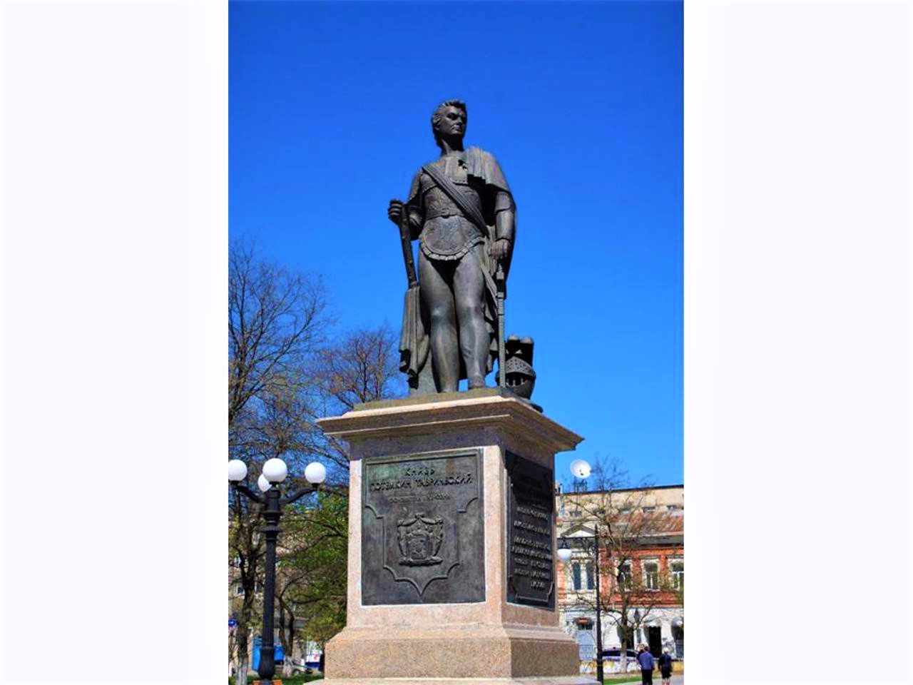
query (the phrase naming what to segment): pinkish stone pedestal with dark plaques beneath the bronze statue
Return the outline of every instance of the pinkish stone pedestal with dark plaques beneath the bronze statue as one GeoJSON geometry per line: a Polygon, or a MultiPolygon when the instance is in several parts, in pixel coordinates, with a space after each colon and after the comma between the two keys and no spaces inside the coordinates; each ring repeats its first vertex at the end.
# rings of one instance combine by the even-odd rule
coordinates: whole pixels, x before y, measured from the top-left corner
{"type": "Polygon", "coordinates": [[[582,437],[497,388],[320,427],[351,448],[348,620],[328,685],[595,682],[554,583],[554,455],[582,437]]]}

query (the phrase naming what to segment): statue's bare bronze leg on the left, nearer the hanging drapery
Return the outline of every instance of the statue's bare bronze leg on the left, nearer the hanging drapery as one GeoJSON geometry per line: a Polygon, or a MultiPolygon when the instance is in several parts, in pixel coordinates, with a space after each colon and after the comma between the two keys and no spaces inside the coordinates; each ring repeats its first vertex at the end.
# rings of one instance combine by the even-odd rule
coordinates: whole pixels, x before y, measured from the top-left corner
{"type": "Polygon", "coordinates": [[[447,280],[453,278],[453,262],[434,261],[418,253],[418,280],[428,311],[431,359],[437,391],[459,389],[459,344],[456,337],[454,294],[447,280]]]}

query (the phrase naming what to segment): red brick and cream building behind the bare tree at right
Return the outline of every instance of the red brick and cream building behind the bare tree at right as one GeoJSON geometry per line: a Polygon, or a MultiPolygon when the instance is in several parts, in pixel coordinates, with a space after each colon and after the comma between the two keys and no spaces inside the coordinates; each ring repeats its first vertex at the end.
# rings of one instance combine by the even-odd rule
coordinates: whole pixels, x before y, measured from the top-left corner
{"type": "Polygon", "coordinates": [[[595,657],[597,528],[603,650],[620,648],[626,624],[629,647],[645,644],[656,656],[668,649],[683,659],[683,486],[558,493],[555,505],[558,546],[572,550],[567,564],[557,562],[561,626],[577,640],[582,661],[595,657]]]}

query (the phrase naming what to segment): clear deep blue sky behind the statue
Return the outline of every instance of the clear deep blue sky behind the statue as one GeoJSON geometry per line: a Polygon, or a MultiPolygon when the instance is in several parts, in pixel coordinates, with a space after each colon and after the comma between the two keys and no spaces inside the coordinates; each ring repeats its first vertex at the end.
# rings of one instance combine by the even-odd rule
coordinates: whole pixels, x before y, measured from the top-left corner
{"type": "Polygon", "coordinates": [[[678,2],[232,2],[230,234],[320,273],[343,327],[398,330],[386,205],[466,100],[518,207],[508,332],[585,437],[556,478],[599,455],[681,482],[682,36],[678,2]]]}

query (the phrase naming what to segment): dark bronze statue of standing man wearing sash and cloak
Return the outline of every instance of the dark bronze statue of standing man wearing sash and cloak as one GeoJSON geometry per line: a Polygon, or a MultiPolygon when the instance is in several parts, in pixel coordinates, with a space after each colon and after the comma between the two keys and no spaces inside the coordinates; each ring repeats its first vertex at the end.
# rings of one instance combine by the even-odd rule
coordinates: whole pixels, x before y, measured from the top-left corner
{"type": "MultiPolygon", "coordinates": [[[[494,277],[509,270],[516,207],[494,156],[463,148],[466,123],[465,102],[438,106],[431,129],[441,155],[415,174],[405,203],[391,200],[387,209],[403,231],[407,219],[406,242],[420,241],[418,297],[407,293],[400,341],[400,369],[418,392],[454,391],[461,378],[470,389],[485,387],[498,356],[494,277]]],[[[408,248],[407,272],[411,258],[408,248]]]]}

